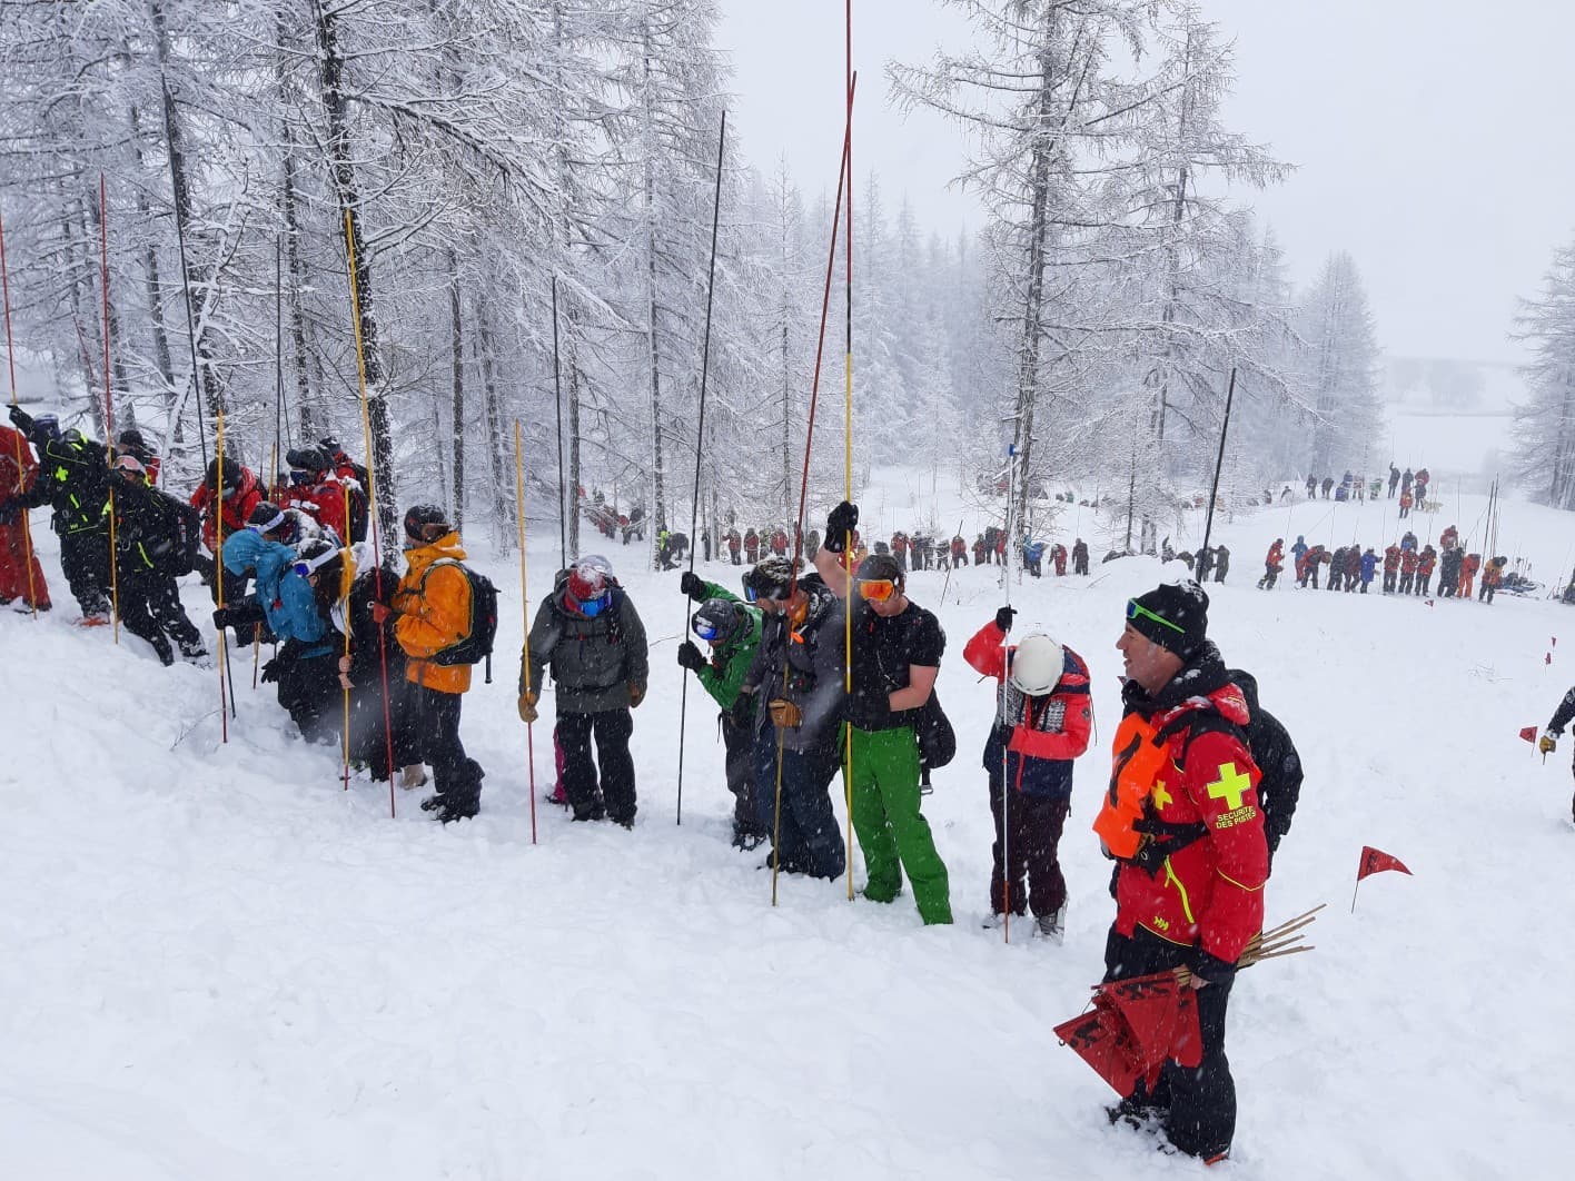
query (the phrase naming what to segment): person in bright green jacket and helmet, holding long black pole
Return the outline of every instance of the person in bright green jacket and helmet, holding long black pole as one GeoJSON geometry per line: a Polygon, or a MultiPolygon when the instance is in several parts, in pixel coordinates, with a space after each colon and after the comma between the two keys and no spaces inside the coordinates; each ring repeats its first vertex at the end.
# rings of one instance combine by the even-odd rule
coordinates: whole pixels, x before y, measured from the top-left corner
{"type": "Polygon", "coordinates": [[[710,657],[685,639],[679,644],[679,666],[696,677],[721,707],[721,742],[726,750],[728,790],[732,792],[732,844],[754,849],[770,839],[761,825],[754,795],[754,702],[743,691],[743,679],[754,663],[761,644],[761,609],[742,602],[718,583],[707,583],[693,570],[685,570],[679,589],[699,603],[690,620],[690,631],[704,639],[710,657]]]}

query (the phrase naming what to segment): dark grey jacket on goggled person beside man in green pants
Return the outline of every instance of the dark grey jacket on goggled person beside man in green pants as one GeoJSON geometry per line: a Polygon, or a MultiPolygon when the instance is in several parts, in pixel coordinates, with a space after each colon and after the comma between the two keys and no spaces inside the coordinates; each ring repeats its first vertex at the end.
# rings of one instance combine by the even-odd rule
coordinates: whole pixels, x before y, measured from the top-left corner
{"type": "Polygon", "coordinates": [[[800,586],[810,594],[810,609],[795,631],[799,639],[791,639],[783,616],[767,616],[761,630],[761,646],[754,652],[754,663],[750,665],[743,685],[754,690],[756,729],[772,724],[769,702],[786,698],[797,705],[803,713],[803,723],[783,732],[783,745],[792,751],[810,751],[835,746],[836,727],[843,720],[844,608],[819,579],[800,586]]]}

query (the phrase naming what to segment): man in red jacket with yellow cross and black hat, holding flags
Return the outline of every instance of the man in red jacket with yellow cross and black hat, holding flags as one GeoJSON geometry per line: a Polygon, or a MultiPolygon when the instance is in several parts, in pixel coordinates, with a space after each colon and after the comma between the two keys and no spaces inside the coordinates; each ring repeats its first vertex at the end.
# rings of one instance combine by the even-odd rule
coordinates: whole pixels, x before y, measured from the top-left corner
{"type": "Polygon", "coordinates": [[[1128,600],[1115,647],[1126,660],[1123,718],[1093,825],[1117,861],[1104,978],[1188,968],[1202,1063],[1167,1061],[1154,1088],[1139,1080],[1110,1120],[1159,1120],[1175,1148],[1213,1162],[1236,1129],[1225,1008],[1236,961],[1263,929],[1269,864],[1251,715],[1208,639],[1208,595],[1197,583],[1128,600]]]}

